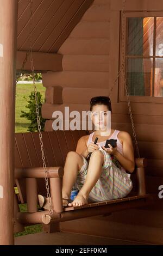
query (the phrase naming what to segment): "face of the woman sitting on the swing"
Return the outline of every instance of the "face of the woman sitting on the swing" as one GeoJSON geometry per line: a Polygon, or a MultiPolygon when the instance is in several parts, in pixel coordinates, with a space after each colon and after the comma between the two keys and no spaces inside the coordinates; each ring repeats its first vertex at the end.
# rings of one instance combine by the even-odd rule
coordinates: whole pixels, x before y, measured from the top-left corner
{"type": "Polygon", "coordinates": [[[91,119],[96,130],[109,131],[111,129],[111,111],[106,105],[93,106],[91,119]]]}

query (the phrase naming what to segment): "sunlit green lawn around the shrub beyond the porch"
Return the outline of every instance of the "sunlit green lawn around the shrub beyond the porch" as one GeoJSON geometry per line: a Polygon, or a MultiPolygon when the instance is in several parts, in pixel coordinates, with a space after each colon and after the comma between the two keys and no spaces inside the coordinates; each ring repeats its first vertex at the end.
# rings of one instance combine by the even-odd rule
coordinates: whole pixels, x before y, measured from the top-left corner
{"type": "MultiPolygon", "coordinates": [[[[36,84],[37,91],[42,94],[42,99],[45,99],[45,87],[42,83],[36,84]]],[[[15,132],[27,132],[30,121],[26,118],[21,118],[21,111],[28,112],[27,100],[23,98],[28,96],[33,92],[33,84],[17,84],[16,86],[16,106],[15,106],[15,132]]]]}

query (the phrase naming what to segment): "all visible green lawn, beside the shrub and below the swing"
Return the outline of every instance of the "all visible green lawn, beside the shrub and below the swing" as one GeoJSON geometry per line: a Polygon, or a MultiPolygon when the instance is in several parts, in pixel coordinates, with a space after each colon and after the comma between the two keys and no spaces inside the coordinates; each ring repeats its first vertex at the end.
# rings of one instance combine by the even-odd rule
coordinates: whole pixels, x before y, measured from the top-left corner
{"type": "MultiPolygon", "coordinates": [[[[42,83],[36,84],[37,91],[42,94],[42,99],[45,99],[45,87],[42,86],[42,83]]],[[[27,132],[28,125],[30,124],[30,121],[26,118],[21,118],[21,111],[28,112],[28,108],[26,108],[27,100],[23,98],[23,96],[26,96],[28,99],[28,96],[31,92],[33,92],[33,84],[17,84],[16,86],[16,106],[15,106],[15,132],[27,132]]],[[[20,204],[20,210],[22,212],[27,211],[26,204],[20,204]]],[[[42,225],[36,224],[31,225],[29,227],[25,228],[25,231],[16,233],[15,236],[21,236],[21,235],[27,235],[27,234],[33,234],[38,233],[42,231],[42,225]]]]}

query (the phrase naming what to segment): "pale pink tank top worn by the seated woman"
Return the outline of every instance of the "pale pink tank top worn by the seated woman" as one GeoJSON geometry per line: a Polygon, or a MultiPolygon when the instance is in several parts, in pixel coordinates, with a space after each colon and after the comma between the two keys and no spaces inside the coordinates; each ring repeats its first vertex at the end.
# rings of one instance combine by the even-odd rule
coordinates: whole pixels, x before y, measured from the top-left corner
{"type": "MultiPolygon", "coordinates": [[[[123,155],[123,147],[122,147],[122,144],[120,142],[120,140],[118,139],[117,135],[120,131],[119,130],[114,130],[114,132],[112,133],[112,135],[108,138],[108,139],[117,139],[117,150],[123,155]]],[[[89,136],[89,139],[87,140],[87,146],[92,142],[92,138],[93,138],[93,135],[95,134],[95,131],[90,133],[90,136],[89,136]]],[[[97,145],[100,145],[101,147],[104,146],[106,143],[106,140],[105,141],[102,141],[102,142],[97,142],[96,144],[97,145]]],[[[120,164],[121,165],[121,164],[120,164]]],[[[121,169],[126,173],[126,170],[121,166],[121,169]]],[[[130,174],[128,173],[128,176],[130,177],[130,174]]]]}

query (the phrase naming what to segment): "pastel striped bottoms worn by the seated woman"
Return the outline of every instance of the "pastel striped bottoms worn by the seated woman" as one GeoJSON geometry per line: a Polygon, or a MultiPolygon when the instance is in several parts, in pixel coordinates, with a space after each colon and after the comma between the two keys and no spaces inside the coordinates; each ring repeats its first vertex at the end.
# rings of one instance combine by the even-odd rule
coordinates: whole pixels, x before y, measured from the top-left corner
{"type": "MultiPolygon", "coordinates": [[[[104,154],[102,173],[95,186],[92,188],[88,200],[90,202],[99,202],[126,197],[133,188],[133,182],[130,176],[125,170],[118,168],[115,163],[112,162],[109,153],[104,149],[101,151],[104,154]]],[[[87,161],[83,157],[83,161],[83,166],[79,170],[77,180],[74,184],[79,191],[84,185],[87,169],[89,167],[89,160],[87,161]]]]}

